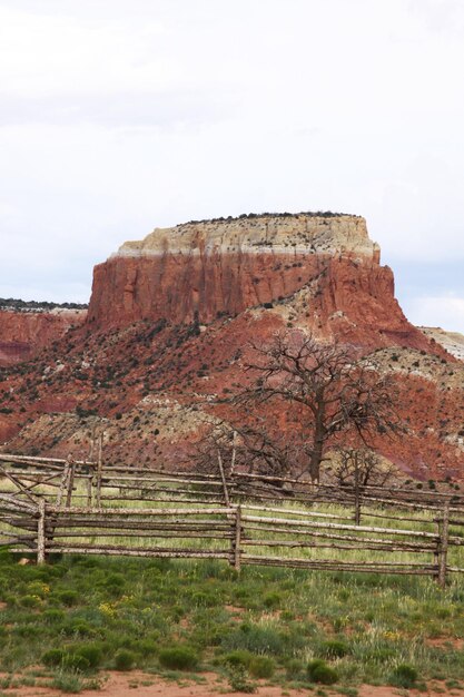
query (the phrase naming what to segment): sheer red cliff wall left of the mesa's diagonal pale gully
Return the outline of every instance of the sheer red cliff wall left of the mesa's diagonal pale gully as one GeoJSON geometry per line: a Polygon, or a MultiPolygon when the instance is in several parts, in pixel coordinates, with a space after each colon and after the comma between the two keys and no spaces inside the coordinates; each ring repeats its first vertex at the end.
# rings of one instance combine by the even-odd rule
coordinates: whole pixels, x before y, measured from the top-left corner
{"type": "Polygon", "coordinates": [[[116,257],[95,268],[89,321],[206,324],[295,293],[323,265],[316,255],[267,253],[116,257]]]}

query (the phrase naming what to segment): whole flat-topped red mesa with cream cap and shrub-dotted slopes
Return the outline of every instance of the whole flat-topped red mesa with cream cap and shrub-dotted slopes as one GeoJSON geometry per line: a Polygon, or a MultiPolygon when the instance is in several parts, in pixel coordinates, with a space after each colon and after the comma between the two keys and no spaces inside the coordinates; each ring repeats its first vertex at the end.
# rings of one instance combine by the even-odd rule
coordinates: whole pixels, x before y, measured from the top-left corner
{"type": "Polygon", "coordinates": [[[422,479],[464,475],[464,364],[406,320],[348,215],[191,222],[126,243],[95,268],[87,321],[3,370],[0,441],[87,457],[98,428],[109,460],[178,467],[205,420],[229,418],[250,340],[288,328],[394,375],[407,436],[379,435],[379,452],[422,479]]]}

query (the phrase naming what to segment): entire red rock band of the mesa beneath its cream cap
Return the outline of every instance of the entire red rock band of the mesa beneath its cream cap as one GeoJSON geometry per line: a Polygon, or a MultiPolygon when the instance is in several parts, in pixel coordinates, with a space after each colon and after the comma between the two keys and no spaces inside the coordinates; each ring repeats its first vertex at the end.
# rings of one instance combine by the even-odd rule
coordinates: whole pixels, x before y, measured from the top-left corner
{"type": "Polygon", "coordinates": [[[349,254],[210,254],[116,257],[93,273],[88,323],[141,320],[209,324],[266,303],[305,295],[307,325],[363,346],[430,347],[394,297],[393,273],[349,254]]]}

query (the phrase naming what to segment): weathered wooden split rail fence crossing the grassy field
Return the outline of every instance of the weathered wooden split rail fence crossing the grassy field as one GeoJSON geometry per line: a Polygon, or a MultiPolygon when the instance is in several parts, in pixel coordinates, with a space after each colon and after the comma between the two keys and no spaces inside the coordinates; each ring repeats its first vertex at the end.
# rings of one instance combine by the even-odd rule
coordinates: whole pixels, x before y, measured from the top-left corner
{"type": "Polygon", "coordinates": [[[0,454],[0,548],[33,553],[224,559],[428,576],[464,572],[464,497],[314,487],[224,471],[165,472],[0,454]]]}

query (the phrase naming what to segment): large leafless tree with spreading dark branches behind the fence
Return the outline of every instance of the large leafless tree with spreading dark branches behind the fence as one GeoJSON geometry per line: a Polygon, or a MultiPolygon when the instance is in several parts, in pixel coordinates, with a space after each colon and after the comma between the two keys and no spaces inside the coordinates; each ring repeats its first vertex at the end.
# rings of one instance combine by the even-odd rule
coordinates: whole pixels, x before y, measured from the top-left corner
{"type": "Polygon", "coordinates": [[[397,429],[391,379],[367,360],[357,360],[353,347],[292,332],[268,344],[254,343],[245,364],[251,381],[236,403],[253,410],[265,405],[267,413],[298,408],[313,482],[319,481],[320,463],[336,434],[349,430],[367,445],[369,438],[397,429]]]}

